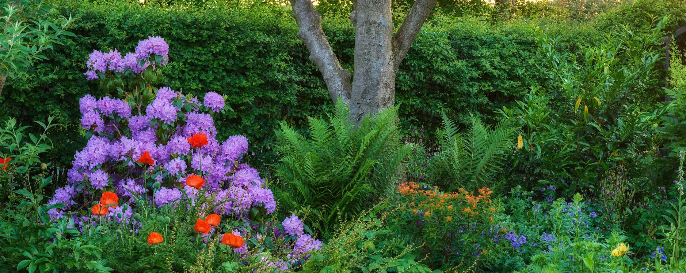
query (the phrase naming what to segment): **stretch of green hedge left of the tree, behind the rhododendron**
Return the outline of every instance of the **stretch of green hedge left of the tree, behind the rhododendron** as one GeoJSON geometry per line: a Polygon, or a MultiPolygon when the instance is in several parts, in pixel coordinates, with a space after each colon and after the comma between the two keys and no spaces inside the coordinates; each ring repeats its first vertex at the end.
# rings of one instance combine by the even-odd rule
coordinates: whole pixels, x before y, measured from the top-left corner
{"type": "MultiPolygon", "coordinates": [[[[235,112],[217,116],[220,138],[248,136],[256,161],[273,154],[263,153],[268,137],[279,120],[302,120],[327,108],[329,98],[318,73],[307,61],[295,36],[295,23],[285,10],[263,5],[244,8],[216,4],[202,8],[165,9],[141,7],[118,1],[54,1],[56,14],[73,14],[77,23],[70,29],[76,38],[66,39],[49,54],[51,61],[37,66],[34,75],[13,83],[0,99],[5,111],[20,122],[54,114],[67,131],[54,135],[53,158],[62,164],[83,146],[77,128],[78,99],[85,94],[102,96],[97,81],[86,81],[85,61],[93,49],[133,51],[139,40],[162,36],[169,43],[169,59],[161,85],[196,94],[228,94],[227,105],[235,112]],[[36,75],[53,74],[51,81],[36,75]],[[314,112],[316,111],[316,112],[314,112]]],[[[264,164],[259,164],[263,166],[264,164]]]]}

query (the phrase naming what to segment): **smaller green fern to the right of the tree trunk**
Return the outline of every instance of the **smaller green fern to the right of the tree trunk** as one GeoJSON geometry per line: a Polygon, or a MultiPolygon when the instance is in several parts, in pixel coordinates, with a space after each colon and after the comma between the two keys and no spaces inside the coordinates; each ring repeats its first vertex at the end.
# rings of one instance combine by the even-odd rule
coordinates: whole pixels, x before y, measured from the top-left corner
{"type": "Polygon", "coordinates": [[[448,192],[493,187],[493,176],[501,170],[501,154],[513,140],[515,128],[508,121],[493,131],[474,116],[469,121],[471,128],[458,133],[456,122],[443,114],[440,152],[429,161],[427,177],[448,192]]]}

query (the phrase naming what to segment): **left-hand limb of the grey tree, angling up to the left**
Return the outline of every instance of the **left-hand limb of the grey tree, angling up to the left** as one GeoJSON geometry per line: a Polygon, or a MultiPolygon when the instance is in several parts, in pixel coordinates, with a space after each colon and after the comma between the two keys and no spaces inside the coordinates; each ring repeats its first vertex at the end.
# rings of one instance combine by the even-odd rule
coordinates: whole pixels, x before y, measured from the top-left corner
{"type": "Polygon", "coordinates": [[[338,57],[331,49],[327,36],[322,29],[322,15],[314,9],[310,0],[290,0],[293,16],[298,23],[298,38],[303,40],[309,50],[309,60],[317,68],[327,83],[329,96],[335,103],[338,96],[350,105],[352,92],[351,73],[341,67],[338,57]]]}

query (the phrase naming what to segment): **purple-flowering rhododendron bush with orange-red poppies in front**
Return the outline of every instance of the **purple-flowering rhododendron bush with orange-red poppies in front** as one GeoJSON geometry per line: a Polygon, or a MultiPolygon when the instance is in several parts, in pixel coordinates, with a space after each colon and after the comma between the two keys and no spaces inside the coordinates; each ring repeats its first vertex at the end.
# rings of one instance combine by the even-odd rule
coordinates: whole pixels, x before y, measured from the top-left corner
{"type": "MultiPolygon", "coordinates": [[[[282,269],[295,265],[322,243],[305,234],[298,216],[283,224],[274,220],[272,190],[255,168],[241,163],[248,151],[246,137],[217,140],[213,115],[224,111],[224,97],[207,92],[200,99],[152,86],[168,62],[168,48],[163,38],[151,37],[123,58],[116,49],[89,56],[84,75],[99,79],[107,93],[117,90],[119,98],[88,94],[80,99],[88,143],[74,155],[68,185],[49,200],[66,207],[51,209],[49,215],[71,217],[76,225],[130,224],[126,229],[137,232],[145,224],[139,212],[183,206],[198,218],[191,219],[196,226],[184,226],[189,235],[232,246],[241,259],[251,255],[248,242],[273,235],[288,244],[282,251],[290,260],[268,262],[282,269]]],[[[169,220],[166,224],[169,229],[169,220]]],[[[151,245],[164,244],[160,234],[165,233],[141,236],[150,236],[151,245]]]]}

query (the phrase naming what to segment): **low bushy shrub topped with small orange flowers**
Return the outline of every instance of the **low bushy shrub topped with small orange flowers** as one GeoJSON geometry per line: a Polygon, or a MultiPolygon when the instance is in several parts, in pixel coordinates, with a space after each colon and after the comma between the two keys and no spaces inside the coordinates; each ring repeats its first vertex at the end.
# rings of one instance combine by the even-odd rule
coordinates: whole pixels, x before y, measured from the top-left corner
{"type": "Polygon", "coordinates": [[[402,197],[389,220],[390,229],[419,246],[419,256],[431,270],[474,265],[492,250],[497,242],[494,238],[502,233],[494,227],[496,209],[488,188],[478,194],[462,189],[449,194],[436,187],[423,190],[409,182],[398,190],[402,197]]]}

